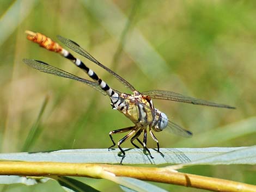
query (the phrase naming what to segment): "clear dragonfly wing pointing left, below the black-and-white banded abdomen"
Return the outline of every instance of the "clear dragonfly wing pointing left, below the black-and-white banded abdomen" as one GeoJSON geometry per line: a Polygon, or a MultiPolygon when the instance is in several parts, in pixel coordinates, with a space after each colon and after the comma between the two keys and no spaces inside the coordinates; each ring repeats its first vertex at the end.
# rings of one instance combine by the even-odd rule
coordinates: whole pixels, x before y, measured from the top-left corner
{"type": "Polygon", "coordinates": [[[50,74],[55,75],[55,76],[77,80],[78,82],[82,82],[84,84],[87,84],[87,85],[91,86],[92,88],[94,88],[95,90],[100,91],[101,94],[107,95],[106,92],[103,91],[100,88],[99,84],[97,84],[95,82],[92,82],[90,80],[83,79],[81,77],[77,77],[75,75],[72,75],[69,72],[66,72],[66,71],[63,71],[61,69],[58,69],[57,67],[51,66],[51,65],[49,65],[47,63],[44,63],[42,61],[32,60],[32,59],[23,59],[23,62],[25,64],[27,64],[28,66],[31,66],[34,69],[37,69],[37,70],[39,70],[41,72],[50,73],[50,74]]]}

